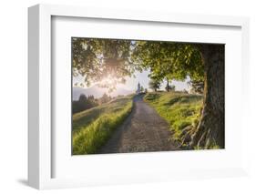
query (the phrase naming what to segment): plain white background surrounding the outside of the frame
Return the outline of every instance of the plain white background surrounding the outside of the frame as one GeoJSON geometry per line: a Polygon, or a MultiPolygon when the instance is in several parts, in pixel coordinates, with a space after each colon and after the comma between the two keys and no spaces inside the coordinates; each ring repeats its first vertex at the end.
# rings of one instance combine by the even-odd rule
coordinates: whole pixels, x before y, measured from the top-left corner
{"type": "MultiPolygon", "coordinates": [[[[255,2],[255,1],[254,1],[255,2]]],[[[26,186],[27,7],[38,3],[91,5],[174,13],[245,15],[251,18],[251,87],[256,90],[256,5],[253,0],[5,0],[0,6],[0,193],[34,193],[26,186]]],[[[252,193],[256,191],[255,90],[251,90],[251,175],[248,178],[184,180],[169,183],[66,189],[62,193],[252,193]]],[[[239,142],[238,142],[239,143],[239,142]]],[[[55,193],[60,190],[43,191],[55,193]]]]}

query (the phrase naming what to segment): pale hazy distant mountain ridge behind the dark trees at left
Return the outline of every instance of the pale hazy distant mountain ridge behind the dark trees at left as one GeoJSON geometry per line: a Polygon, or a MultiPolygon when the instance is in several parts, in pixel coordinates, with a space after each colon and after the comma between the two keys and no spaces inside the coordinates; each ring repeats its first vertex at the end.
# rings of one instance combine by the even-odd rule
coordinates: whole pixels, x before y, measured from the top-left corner
{"type": "MultiPolygon", "coordinates": [[[[88,87],[88,88],[73,87],[73,100],[77,100],[81,94],[84,94],[86,96],[93,95],[94,97],[98,98],[98,97],[102,97],[104,93],[108,94],[107,88],[102,88],[97,86],[88,87]]],[[[116,90],[114,90],[108,95],[110,95],[111,97],[118,97],[118,95],[126,96],[132,93],[134,92],[131,90],[118,87],[116,90]]]]}

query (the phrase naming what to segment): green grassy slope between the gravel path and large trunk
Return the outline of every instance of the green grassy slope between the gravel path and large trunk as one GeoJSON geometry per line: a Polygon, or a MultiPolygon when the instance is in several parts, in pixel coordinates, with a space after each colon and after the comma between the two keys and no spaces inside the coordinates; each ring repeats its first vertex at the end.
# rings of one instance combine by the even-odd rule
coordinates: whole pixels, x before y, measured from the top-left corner
{"type": "MultiPolygon", "coordinates": [[[[173,138],[185,145],[191,128],[198,124],[202,97],[181,92],[148,93],[144,100],[169,123],[173,138]]],[[[191,134],[190,134],[191,135],[191,134]]]]}

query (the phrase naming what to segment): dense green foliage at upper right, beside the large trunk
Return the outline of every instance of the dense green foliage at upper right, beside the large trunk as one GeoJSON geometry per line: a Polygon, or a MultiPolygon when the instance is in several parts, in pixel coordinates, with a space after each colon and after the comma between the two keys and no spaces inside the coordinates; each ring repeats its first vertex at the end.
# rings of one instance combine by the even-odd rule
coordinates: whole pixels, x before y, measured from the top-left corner
{"type": "Polygon", "coordinates": [[[132,60],[150,69],[154,79],[203,80],[204,68],[198,46],[163,41],[137,41],[132,60]]]}

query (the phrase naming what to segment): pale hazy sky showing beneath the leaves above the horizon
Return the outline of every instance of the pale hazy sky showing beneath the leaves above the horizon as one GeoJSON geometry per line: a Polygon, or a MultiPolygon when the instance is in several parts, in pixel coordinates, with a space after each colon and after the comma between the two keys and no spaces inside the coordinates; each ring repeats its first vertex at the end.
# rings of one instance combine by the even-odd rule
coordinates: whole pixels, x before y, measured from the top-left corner
{"type": "MultiPolygon", "coordinates": [[[[135,72],[135,78],[134,77],[127,77],[126,78],[126,84],[118,84],[117,87],[122,87],[122,88],[125,88],[127,90],[131,90],[131,91],[135,91],[138,87],[138,82],[140,84],[140,86],[144,87],[144,88],[148,88],[148,82],[149,82],[149,78],[148,78],[148,74],[149,74],[149,71],[143,71],[142,73],[136,71],[135,72]]],[[[83,78],[82,77],[73,77],[73,83],[77,83],[77,82],[80,82],[82,81],[83,78]]],[[[184,81],[171,81],[171,85],[174,85],[175,86],[175,89],[176,90],[183,90],[183,89],[186,89],[186,90],[189,90],[189,85],[188,85],[188,81],[189,81],[189,77],[184,81]]],[[[90,87],[93,87],[94,85],[92,84],[90,87]]],[[[161,87],[160,89],[161,90],[164,90],[166,87],[166,81],[164,81],[162,84],[161,84],[161,87]]],[[[85,87],[87,88],[87,87],[85,87]]]]}

